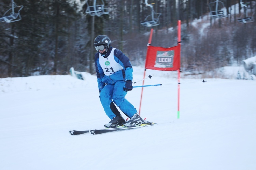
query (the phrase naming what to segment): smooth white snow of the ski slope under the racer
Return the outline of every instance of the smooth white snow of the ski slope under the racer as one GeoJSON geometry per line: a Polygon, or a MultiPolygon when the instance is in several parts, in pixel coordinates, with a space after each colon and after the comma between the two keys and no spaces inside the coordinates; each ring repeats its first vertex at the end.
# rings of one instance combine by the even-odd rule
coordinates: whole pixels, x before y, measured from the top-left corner
{"type": "MultiPolygon", "coordinates": [[[[136,85],[143,73],[134,67],[136,85]]],[[[178,119],[176,74],[146,72],[145,85],[173,83],[143,90],[141,117],[158,125],[77,136],[69,131],[110,121],[95,75],[0,79],[0,169],[255,170],[256,81],[181,76],[178,119]]],[[[126,96],[137,110],[140,95],[134,88],[126,96]]]]}

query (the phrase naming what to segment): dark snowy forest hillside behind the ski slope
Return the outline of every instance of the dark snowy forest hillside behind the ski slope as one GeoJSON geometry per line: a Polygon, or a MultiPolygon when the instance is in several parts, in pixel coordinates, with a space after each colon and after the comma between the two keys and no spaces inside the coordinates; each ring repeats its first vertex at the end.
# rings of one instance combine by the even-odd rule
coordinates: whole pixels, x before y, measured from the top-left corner
{"type": "Polygon", "coordinates": [[[240,66],[256,55],[256,2],[219,0],[225,14],[216,18],[210,4],[216,7],[217,1],[0,0],[0,17],[12,11],[12,2],[21,17],[15,22],[0,20],[0,78],[65,75],[71,67],[95,74],[97,35],[108,35],[111,46],[123,51],[132,65],[144,66],[150,29],[152,46],[172,47],[177,45],[178,20],[181,70],[204,73],[240,66]],[[104,7],[103,13],[93,12],[96,5],[104,7]],[[147,16],[154,16],[158,24],[143,25],[147,16]],[[252,22],[239,22],[246,17],[252,22]]]}

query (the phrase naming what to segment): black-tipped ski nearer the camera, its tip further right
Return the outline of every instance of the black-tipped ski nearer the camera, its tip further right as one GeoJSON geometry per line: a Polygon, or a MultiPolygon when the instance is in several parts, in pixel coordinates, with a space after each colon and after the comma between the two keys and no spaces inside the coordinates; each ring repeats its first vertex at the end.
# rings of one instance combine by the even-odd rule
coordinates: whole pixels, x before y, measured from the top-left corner
{"type": "Polygon", "coordinates": [[[98,134],[107,133],[107,132],[124,131],[124,130],[142,128],[142,127],[146,127],[146,126],[153,126],[156,124],[157,123],[146,123],[146,124],[142,124],[140,126],[127,126],[127,127],[120,127],[120,128],[108,128],[108,129],[94,129],[94,130],[90,130],[90,133],[93,135],[98,135],[98,134]]]}

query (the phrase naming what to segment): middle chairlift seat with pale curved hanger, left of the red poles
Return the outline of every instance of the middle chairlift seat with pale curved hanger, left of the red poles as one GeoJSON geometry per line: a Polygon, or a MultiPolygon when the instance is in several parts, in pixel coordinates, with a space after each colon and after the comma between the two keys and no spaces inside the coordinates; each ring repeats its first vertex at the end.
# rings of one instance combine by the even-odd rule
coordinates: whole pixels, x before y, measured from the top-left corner
{"type": "MultiPolygon", "coordinates": [[[[160,24],[159,17],[162,15],[161,13],[156,13],[153,9],[152,4],[148,4],[147,0],[145,0],[146,6],[149,6],[151,9],[151,15],[148,15],[144,21],[141,21],[140,24],[143,27],[153,27],[158,26],[160,24]]],[[[154,3],[153,3],[154,4],[154,3]]]]}

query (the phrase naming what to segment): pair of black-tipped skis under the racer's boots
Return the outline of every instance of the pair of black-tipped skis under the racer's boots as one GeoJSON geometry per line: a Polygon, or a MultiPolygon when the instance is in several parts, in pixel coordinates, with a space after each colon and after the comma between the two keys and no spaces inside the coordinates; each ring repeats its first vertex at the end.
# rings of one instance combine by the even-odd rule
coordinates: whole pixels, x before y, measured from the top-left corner
{"type": "Polygon", "coordinates": [[[115,132],[115,131],[124,131],[124,130],[130,130],[130,129],[137,129],[137,128],[142,128],[142,127],[148,127],[148,126],[153,126],[156,125],[157,123],[144,123],[141,124],[140,126],[127,126],[127,127],[118,127],[118,128],[106,128],[106,129],[93,129],[93,130],[87,130],[87,131],[69,131],[71,135],[80,135],[84,133],[91,133],[93,135],[98,135],[102,133],[107,133],[107,132],[115,132]]]}

